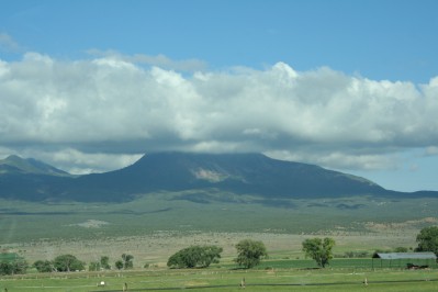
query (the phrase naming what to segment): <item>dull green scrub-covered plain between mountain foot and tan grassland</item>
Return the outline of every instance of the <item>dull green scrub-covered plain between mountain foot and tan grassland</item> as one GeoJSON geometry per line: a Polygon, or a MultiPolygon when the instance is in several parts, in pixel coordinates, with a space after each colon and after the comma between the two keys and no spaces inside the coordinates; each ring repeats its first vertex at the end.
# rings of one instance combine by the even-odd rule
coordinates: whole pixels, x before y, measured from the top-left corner
{"type": "Polygon", "coordinates": [[[0,200],[0,245],[45,238],[94,239],[167,232],[373,234],[437,223],[438,199],[261,200],[194,191],[156,193],[125,203],[30,203],[0,200]],[[192,201],[182,200],[189,198],[192,201]],[[194,200],[194,201],[193,201],[194,200]],[[92,223],[98,223],[93,225],[92,223]],[[88,224],[88,225],[87,225],[88,224]]]}

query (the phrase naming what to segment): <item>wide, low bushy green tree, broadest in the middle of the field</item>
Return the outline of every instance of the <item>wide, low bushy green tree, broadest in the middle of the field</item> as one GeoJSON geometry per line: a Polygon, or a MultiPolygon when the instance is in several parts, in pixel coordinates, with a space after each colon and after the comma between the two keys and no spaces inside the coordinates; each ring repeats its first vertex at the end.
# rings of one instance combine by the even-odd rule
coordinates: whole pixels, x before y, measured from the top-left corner
{"type": "Polygon", "coordinates": [[[172,255],[167,261],[170,268],[206,268],[212,262],[217,263],[222,248],[217,246],[191,246],[172,255]]]}

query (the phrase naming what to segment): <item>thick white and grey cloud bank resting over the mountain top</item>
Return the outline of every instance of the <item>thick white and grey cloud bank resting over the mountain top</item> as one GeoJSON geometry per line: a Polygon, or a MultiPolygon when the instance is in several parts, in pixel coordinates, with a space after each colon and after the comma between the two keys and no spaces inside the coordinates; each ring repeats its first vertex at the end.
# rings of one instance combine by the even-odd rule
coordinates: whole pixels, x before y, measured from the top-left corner
{"type": "Polygon", "coordinates": [[[284,63],[182,74],[159,59],[0,60],[0,154],[75,172],[157,150],[261,151],[338,169],[395,168],[409,148],[437,154],[438,77],[414,85],[284,63]]]}

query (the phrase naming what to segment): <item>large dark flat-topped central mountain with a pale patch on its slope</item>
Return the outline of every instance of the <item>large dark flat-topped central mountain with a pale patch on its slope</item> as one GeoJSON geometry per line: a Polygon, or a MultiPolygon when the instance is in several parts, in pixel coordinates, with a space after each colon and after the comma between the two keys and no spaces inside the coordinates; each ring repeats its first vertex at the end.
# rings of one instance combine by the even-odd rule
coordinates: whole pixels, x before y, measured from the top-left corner
{"type": "Polygon", "coordinates": [[[157,153],[124,169],[83,176],[76,182],[74,195],[97,195],[101,190],[109,190],[106,195],[130,195],[205,188],[280,198],[385,192],[362,178],[260,154],[157,153]]]}

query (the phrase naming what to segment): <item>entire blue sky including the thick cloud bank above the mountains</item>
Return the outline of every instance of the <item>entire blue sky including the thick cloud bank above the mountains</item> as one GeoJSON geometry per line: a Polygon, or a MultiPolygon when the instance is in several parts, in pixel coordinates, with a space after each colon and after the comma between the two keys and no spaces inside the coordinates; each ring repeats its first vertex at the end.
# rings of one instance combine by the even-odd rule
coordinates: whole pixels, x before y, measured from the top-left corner
{"type": "Polygon", "coordinates": [[[438,191],[438,1],[0,0],[0,159],[263,153],[438,191]]]}

